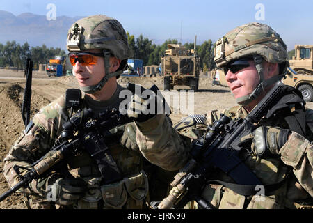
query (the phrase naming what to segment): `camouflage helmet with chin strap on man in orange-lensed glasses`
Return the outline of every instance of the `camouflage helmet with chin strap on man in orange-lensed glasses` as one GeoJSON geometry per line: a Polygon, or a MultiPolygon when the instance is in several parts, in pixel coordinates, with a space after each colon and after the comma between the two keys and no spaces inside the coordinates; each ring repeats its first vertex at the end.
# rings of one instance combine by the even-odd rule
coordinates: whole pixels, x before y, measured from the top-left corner
{"type": "Polygon", "coordinates": [[[94,86],[84,86],[81,90],[94,93],[102,89],[107,80],[122,74],[129,58],[127,35],[122,24],[106,15],[93,15],[78,20],[67,33],[67,50],[70,52],[100,49],[104,55],[104,70],[106,75],[94,86]],[[122,60],[116,72],[109,73],[109,58],[115,56],[122,60]]]}

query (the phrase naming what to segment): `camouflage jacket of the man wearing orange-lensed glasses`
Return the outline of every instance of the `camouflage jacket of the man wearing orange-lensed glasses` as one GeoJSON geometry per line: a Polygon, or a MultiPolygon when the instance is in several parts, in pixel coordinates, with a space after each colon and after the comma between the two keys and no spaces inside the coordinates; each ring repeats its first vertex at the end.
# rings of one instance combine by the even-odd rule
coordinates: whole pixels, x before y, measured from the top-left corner
{"type": "MultiPolygon", "coordinates": [[[[83,95],[82,107],[90,107],[95,112],[118,107],[122,100],[119,98],[121,90],[122,87],[118,85],[118,89],[112,98],[105,102],[97,102],[88,95],[83,95]]],[[[30,167],[33,162],[45,155],[60,135],[62,125],[68,120],[68,113],[65,107],[65,95],[63,95],[40,109],[33,116],[31,123],[19,135],[3,160],[3,174],[10,187],[20,180],[13,170],[15,164],[30,167]]],[[[148,185],[150,173],[144,170],[147,162],[145,162],[143,156],[147,155],[145,155],[145,151],[140,153],[123,148],[119,143],[119,139],[120,135],[115,140],[106,143],[124,177],[118,183],[102,185],[97,164],[86,151],[81,150],[79,154],[69,160],[65,171],[69,171],[74,177],[85,180],[89,188],[86,196],[70,208],[143,208],[145,206],[150,187],[148,185]]],[[[177,163],[179,163],[177,161],[181,159],[179,156],[173,156],[171,151],[162,151],[162,153],[154,153],[154,155],[154,157],[150,157],[150,160],[164,169],[174,170],[181,167],[177,166],[177,163]]],[[[164,170],[158,171],[162,172],[164,170]]],[[[157,187],[156,185],[152,186],[157,187]]],[[[47,180],[45,178],[33,180],[30,189],[24,189],[24,192],[36,195],[31,201],[37,204],[34,204],[32,208],[51,208],[51,202],[46,202],[47,180]]]]}

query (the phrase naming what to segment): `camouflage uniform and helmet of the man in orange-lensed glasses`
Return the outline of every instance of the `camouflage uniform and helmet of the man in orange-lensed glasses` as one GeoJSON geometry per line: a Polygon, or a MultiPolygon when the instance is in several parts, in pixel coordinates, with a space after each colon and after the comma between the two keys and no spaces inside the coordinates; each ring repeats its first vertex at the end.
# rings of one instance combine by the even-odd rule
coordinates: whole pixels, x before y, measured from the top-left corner
{"type": "MultiPolygon", "coordinates": [[[[101,49],[104,54],[106,75],[95,86],[81,87],[85,93],[93,93],[102,89],[108,78],[120,75],[125,69],[129,53],[127,36],[121,24],[104,15],[86,17],[74,23],[67,36],[67,49],[77,53],[88,52],[89,49],[101,49]],[[109,73],[110,56],[115,56],[122,61],[120,68],[113,73],[109,73]]],[[[81,108],[88,107],[93,109],[93,112],[118,108],[122,100],[119,98],[121,90],[122,87],[118,85],[113,96],[106,101],[95,101],[88,94],[83,94],[81,108]]],[[[64,95],[40,109],[40,112],[33,116],[26,130],[19,135],[3,160],[3,174],[10,187],[20,180],[13,167],[15,165],[31,167],[33,162],[45,155],[60,136],[62,126],[68,121],[68,118],[69,112],[65,107],[64,95]]],[[[166,117],[166,119],[168,118],[166,117]]],[[[49,178],[53,178],[56,174],[83,179],[88,185],[88,191],[78,203],[74,203],[72,206],[61,206],[61,208],[145,208],[145,201],[149,201],[149,187],[152,188],[153,193],[150,194],[155,199],[154,192],[158,189],[158,185],[154,185],[154,183],[163,183],[163,179],[155,180],[151,175],[159,176],[163,172],[171,174],[170,171],[181,168],[184,157],[179,155],[184,155],[184,153],[179,154],[176,153],[177,151],[165,149],[158,149],[157,153],[145,150],[134,151],[124,148],[119,142],[120,137],[120,134],[117,134],[116,137],[105,143],[120,169],[122,180],[102,184],[101,173],[95,160],[86,151],[81,150],[68,160],[66,167],[48,177],[33,180],[28,189],[24,188],[24,192],[35,195],[31,197],[32,208],[54,208],[53,203],[47,202],[46,199],[49,197],[47,192],[49,178]],[[151,153],[154,154],[153,157],[150,156],[151,153]],[[163,167],[168,172],[152,166],[144,156],[149,157],[151,162],[163,167]],[[149,185],[148,180],[152,182],[152,185],[149,185]]],[[[26,170],[23,169],[22,175],[25,172],[26,170]]],[[[164,183],[162,188],[166,189],[164,183]]]]}

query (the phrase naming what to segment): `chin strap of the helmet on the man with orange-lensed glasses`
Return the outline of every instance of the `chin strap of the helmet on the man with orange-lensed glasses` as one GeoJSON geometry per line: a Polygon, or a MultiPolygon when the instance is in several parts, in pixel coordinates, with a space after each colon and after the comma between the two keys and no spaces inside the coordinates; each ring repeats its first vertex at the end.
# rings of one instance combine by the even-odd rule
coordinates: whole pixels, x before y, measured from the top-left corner
{"type": "Polygon", "coordinates": [[[104,75],[104,77],[99,81],[98,84],[92,86],[81,86],[81,91],[85,93],[95,93],[97,91],[100,91],[103,88],[104,84],[106,84],[106,82],[108,82],[111,77],[121,75],[123,72],[122,70],[118,70],[116,72],[109,73],[111,53],[109,51],[106,51],[105,49],[102,52],[104,54],[104,70],[106,75],[104,75]]]}

